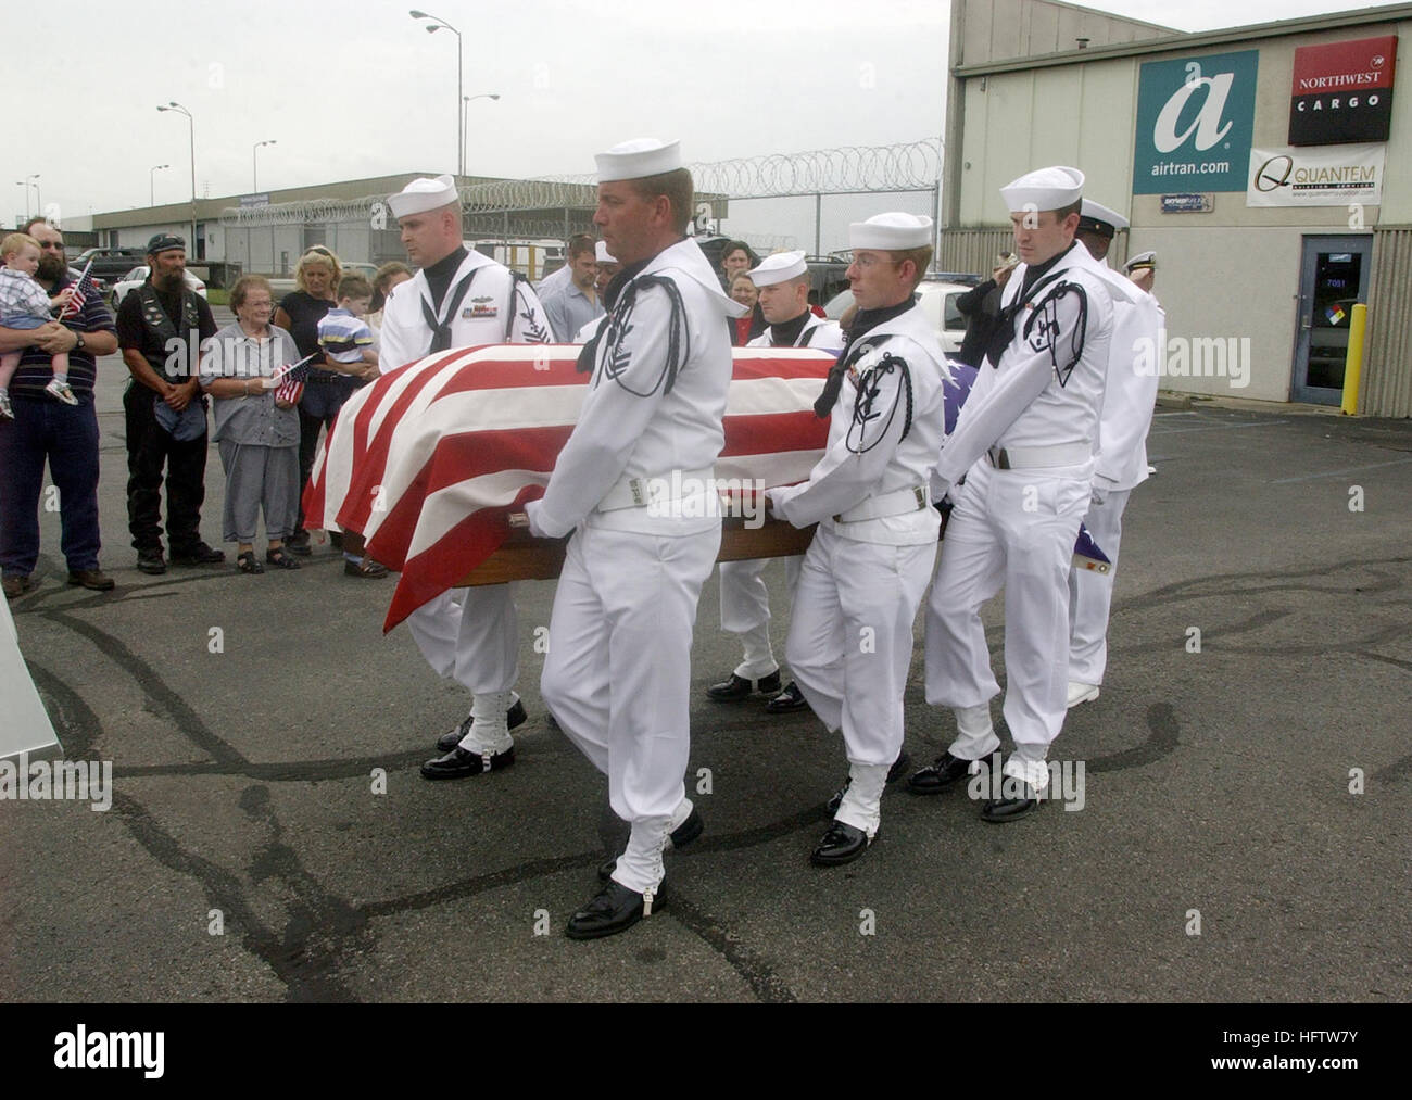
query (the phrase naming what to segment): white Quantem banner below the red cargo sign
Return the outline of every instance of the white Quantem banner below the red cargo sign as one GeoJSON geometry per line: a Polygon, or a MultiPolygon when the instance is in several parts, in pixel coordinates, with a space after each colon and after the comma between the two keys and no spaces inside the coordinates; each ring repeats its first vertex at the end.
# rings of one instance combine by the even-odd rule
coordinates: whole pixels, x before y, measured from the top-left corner
{"type": "Polygon", "coordinates": [[[1387,145],[1252,148],[1247,206],[1382,203],[1387,145]]]}

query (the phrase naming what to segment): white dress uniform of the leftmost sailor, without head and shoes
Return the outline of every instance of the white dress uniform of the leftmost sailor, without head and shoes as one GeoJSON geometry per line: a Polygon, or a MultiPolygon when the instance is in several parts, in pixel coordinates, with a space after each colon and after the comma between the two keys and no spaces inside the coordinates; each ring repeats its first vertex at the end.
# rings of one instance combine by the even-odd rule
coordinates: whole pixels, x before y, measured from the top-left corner
{"type": "MultiPolygon", "coordinates": [[[[393,288],[383,312],[380,356],[384,371],[428,354],[432,332],[422,313],[424,301],[432,305],[422,271],[393,288]]],[[[467,253],[462,260],[441,305],[441,311],[433,312],[438,321],[449,319],[452,347],[545,343],[549,339],[549,322],[534,291],[508,268],[479,253],[467,253]],[[466,292],[460,302],[453,302],[457,287],[466,280],[466,292]],[[456,316],[448,318],[453,306],[456,316]]],[[[438,675],[455,679],[477,696],[501,696],[514,689],[520,675],[520,623],[513,585],[443,593],[412,611],[407,628],[438,675]]],[[[508,747],[508,733],[498,729],[504,722],[498,702],[491,707],[500,710],[498,723],[491,723],[489,739],[484,727],[477,731],[473,724],[462,741],[463,748],[496,753],[508,747]]]]}

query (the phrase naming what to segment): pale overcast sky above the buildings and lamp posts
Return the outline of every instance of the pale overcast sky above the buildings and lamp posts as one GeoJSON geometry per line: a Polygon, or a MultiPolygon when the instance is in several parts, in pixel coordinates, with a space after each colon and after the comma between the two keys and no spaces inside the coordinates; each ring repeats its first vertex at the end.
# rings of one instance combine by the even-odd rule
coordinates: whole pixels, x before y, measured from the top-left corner
{"type": "MultiPolygon", "coordinates": [[[[195,116],[199,195],[251,191],[251,147],[263,140],[277,144],[260,150],[261,191],[453,171],[456,38],[428,34],[408,16],[415,1],[4,0],[6,213],[25,210],[14,181],[35,172],[45,206],[65,217],[147,206],[158,164],[171,168],[155,174],[157,202],[189,199],[186,119],[157,112],[169,100],[195,116]],[[32,52],[16,52],[21,42],[32,52]],[[42,89],[42,109],[16,95],[25,88],[42,89]]],[[[679,137],[688,160],[714,161],[914,141],[943,127],[942,0],[429,3],[465,38],[465,93],[500,95],[470,103],[470,174],[592,172],[596,151],[647,134],[679,137]]],[[[1090,4],[1183,31],[1367,6],[1090,4]]],[[[826,201],[826,236],[858,202],[875,205],[826,201]]],[[[918,196],[891,205],[929,209],[918,196]]],[[[802,234],[812,249],[812,206],[736,203],[727,229],[802,234]]]]}

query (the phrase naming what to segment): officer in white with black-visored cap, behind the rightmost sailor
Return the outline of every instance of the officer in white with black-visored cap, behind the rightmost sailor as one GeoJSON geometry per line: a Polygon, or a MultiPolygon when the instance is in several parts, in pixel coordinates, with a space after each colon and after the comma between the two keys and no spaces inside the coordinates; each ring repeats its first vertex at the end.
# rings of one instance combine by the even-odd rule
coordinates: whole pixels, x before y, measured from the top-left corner
{"type": "Polygon", "coordinates": [[[1083,201],[1079,240],[1093,256],[1113,294],[1113,343],[1103,393],[1100,452],[1093,472],[1093,494],[1084,527],[1113,562],[1107,573],[1072,565],[1069,569],[1069,698],[1070,707],[1099,698],[1108,662],[1108,610],[1117,583],[1123,511],[1128,497],[1148,476],[1147,435],[1156,405],[1158,376],[1141,370],[1138,360],[1155,354],[1166,315],[1156,298],[1114,271],[1108,247],[1128,219],[1091,199],[1083,201]]]}

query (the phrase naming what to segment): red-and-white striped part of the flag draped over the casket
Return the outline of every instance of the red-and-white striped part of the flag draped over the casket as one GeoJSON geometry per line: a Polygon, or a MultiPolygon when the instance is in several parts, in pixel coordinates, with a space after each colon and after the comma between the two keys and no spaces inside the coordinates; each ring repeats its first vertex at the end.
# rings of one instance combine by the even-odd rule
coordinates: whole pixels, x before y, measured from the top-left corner
{"type": "MultiPolygon", "coordinates": [[[[359,390],[339,412],[304,510],[311,527],[363,534],[369,554],[401,573],[385,628],[517,541],[508,517],[544,494],[587,393],[579,350],[498,345],[428,356],[359,390]]],[[[808,349],[734,350],[717,482],[772,489],[809,476],[827,439],[813,402],[832,364],[808,349]]],[[[723,556],[770,552],[751,541],[731,554],[729,542],[723,556]]],[[[806,544],[808,534],[789,535],[774,552],[806,544]]],[[[534,575],[542,573],[524,573],[534,575]]]]}

